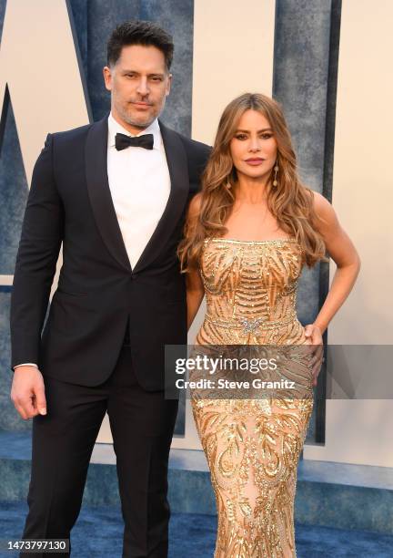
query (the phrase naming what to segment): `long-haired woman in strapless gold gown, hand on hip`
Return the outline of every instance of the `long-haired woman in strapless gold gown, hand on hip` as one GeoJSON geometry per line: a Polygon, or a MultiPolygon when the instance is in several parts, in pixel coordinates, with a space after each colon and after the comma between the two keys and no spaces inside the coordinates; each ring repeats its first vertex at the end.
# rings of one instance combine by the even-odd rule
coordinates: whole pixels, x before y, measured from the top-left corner
{"type": "MultiPolygon", "coordinates": [[[[331,204],[299,180],[273,99],[247,93],[224,110],[179,257],[188,326],[207,295],[197,345],[322,347],[360,263],[331,204]],[[326,251],[337,271],[315,322],[303,327],[297,279],[304,264],[326,259],[326,251]]],[[[297,461],[319,367],[315,356],[297,370],[302,398],[192,399],[217,498],[215,558],[296,556],[297,461]]]]}

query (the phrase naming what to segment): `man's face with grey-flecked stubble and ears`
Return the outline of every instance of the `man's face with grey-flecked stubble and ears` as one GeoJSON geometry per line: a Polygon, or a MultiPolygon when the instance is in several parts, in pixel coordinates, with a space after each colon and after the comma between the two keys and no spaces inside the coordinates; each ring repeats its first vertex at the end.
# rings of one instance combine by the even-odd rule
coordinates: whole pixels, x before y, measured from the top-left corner
{"type": "Polygon", "coordinates": [[[114,67],[104,68],[104,79],[114,118],[137,133],[164,109],[172,76],[161,50],[132,45],[122,48],[114,67]]]}

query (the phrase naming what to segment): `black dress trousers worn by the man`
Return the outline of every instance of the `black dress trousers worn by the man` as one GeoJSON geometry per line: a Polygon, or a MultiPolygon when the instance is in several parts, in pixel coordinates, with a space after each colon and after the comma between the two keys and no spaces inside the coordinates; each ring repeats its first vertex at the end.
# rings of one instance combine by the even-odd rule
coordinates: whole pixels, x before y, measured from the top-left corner
{"type": "MultiPolygon", "coordinates": [[[[47,415],[33,418],[29,512],[23,538],[70,538],[90,456],[107,411],[125,522],[123,558],[166,558],[167,466],[177,401],[166,400],[162,391],[147,392],[139,386],[126,342],[113,374],[100,386],[44,379],[47,415]]],[[[84,549],[80,550],[83,554],[84,549]]],[[[69,553],[33,554],[37,555],[69,553]]]]}

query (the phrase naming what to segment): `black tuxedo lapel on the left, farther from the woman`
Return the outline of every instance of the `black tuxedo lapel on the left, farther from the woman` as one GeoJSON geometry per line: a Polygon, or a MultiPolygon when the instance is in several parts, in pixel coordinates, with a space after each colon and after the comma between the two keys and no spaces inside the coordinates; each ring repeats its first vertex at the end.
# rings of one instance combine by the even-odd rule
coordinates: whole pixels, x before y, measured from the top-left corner
{"type": "Polygon", "coordinates": [[[92,124],[86,138],[87,191],[96,226],[109,252],[131,271],[126,246],[116,217],[107,176],[107,116],[92,124]]]}

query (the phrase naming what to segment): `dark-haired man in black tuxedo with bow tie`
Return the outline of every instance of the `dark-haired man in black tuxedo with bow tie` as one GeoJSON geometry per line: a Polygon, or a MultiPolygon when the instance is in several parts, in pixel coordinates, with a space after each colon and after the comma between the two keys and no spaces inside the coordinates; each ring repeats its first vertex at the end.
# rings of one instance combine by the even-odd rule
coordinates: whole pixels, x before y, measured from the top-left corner
{"type": "Polygon", "coordinates": [[[176,246],[209,153],[157,120],[172,57],[160,27],[117,26],[104,68],[109,117],[49,134],[35,164],[11,305],[11,398],[34,417],[25,539],[69,538],[107,411],[123,556],[167,555],[177,402],[164,397],[164,346],[186,344],[176,246]]]}

